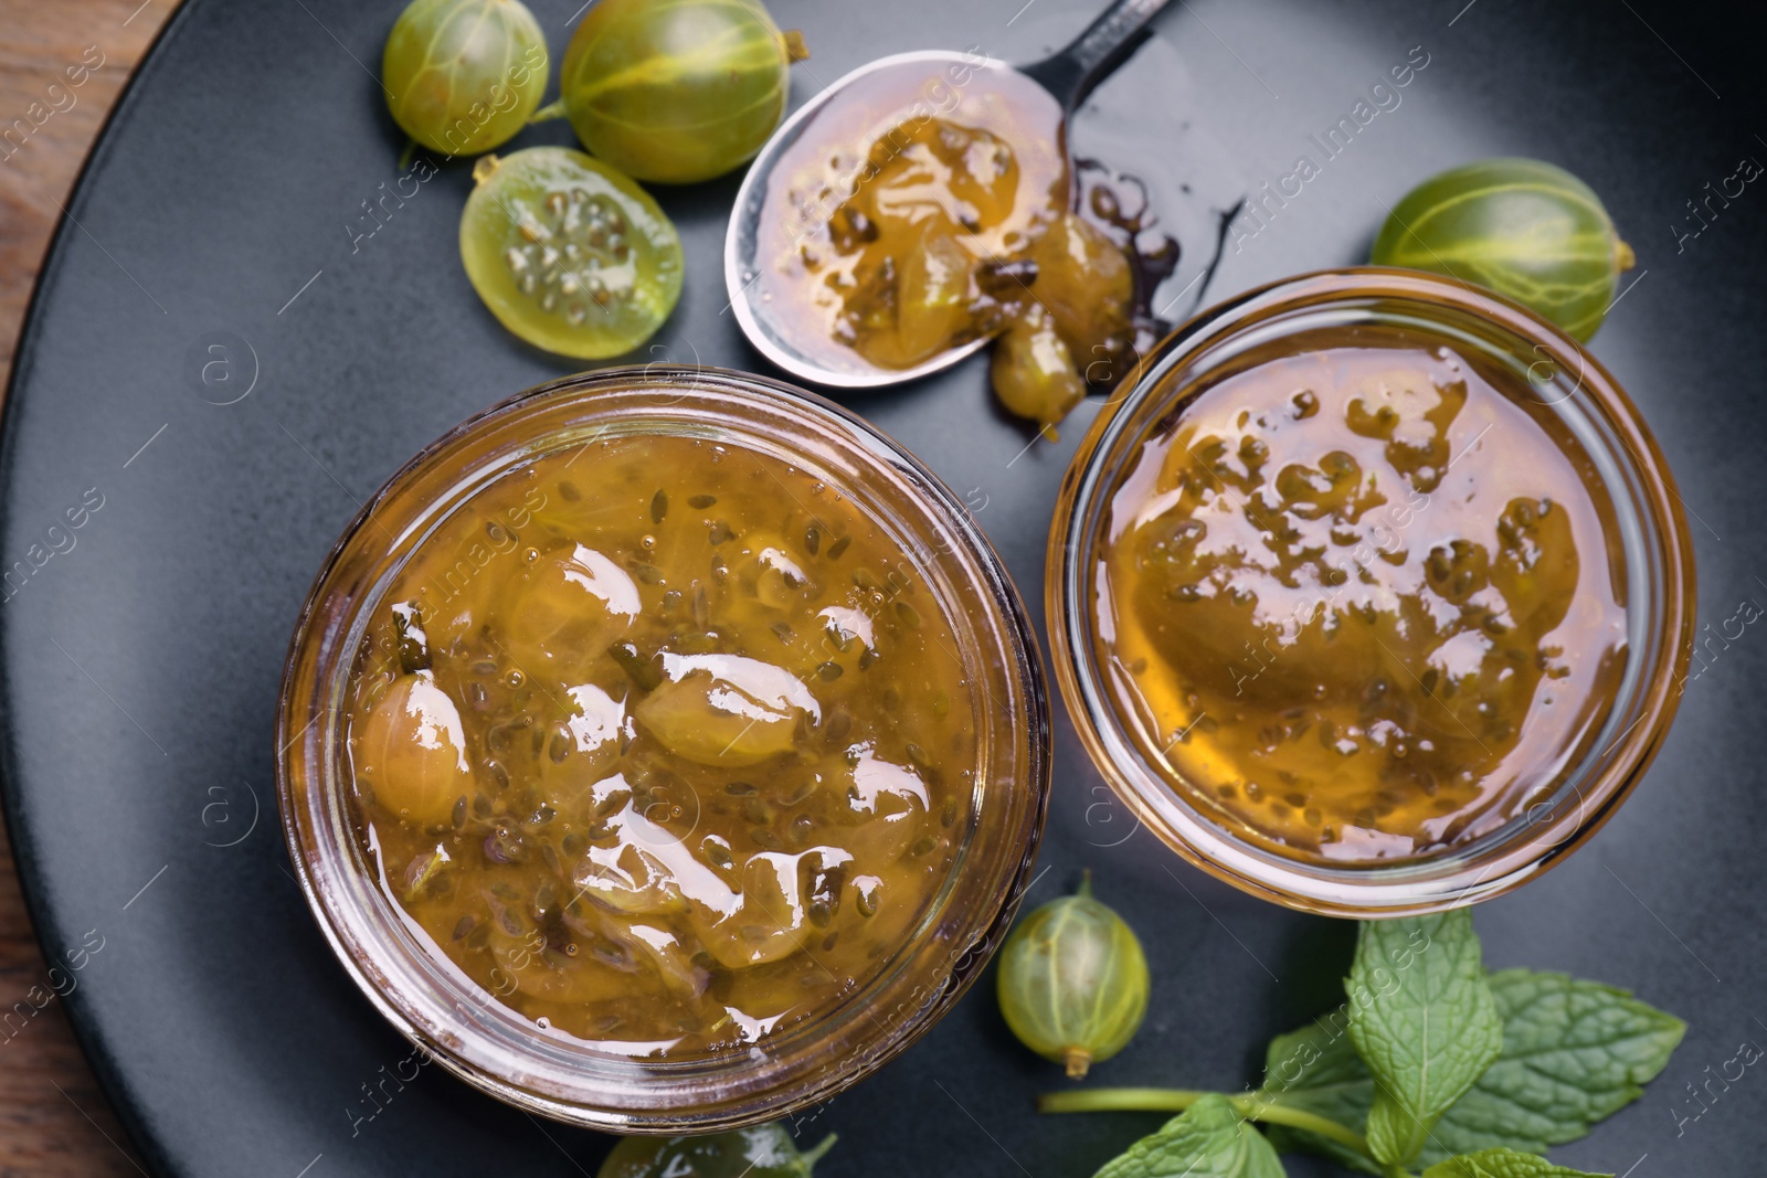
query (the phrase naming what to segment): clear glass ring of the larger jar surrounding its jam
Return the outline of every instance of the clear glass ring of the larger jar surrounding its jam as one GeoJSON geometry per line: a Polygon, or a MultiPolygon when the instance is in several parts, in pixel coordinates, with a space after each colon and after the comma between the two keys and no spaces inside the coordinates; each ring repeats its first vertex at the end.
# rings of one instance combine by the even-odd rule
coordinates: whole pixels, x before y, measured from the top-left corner
{"type": "Polygon", "coordinates": [[[1043,828],[1050,717],[1035,638],[963,505],[839,406],[719,369],[571,376],[463,422],[405,464],[337,540],[307,595],[283,680],[277,788],[300,887],[339,961],[412,1042],[523,1109],[615,1132],[716,1132],[827,1100],[929,1030],[998,945],[1043,828]],[[475,985],[380,880],[360,835],[346,731],[369,615],[413,549],[495,480],[617,434],[760,450],[857,503],[951,622],[974,685],[979,759],[954,858],[921,920],[862,984],[742,1051],[634,1058],[519,1016],[475,985]]]}

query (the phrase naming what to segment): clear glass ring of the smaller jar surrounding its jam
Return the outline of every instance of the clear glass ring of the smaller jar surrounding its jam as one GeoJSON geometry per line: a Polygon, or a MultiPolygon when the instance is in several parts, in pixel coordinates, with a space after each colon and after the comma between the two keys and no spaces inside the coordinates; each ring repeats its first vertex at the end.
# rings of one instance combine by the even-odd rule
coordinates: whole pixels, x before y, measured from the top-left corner
{"type": "MultiPolygon", "coordinates": [[[[1297,415],[1311,412],[1306,406],[1297,415]]],[[[1502,443],[1498,431],[1491,445],[1502,443]]],[[[1246,512],[1249,519],[1251,507],[1246,512]]],[[[1126,526],[1117,521],[1119,530],[1126,526]]],[[[1184,858],[1246,892],[1352,918],[1484,901],[1587,841],[1663,744],[1687,673],[1695,602],[1693,549],[1673,480],[1636,408],[1601,364],[1544,320],[1497,295],[1375,267],[1306,274],[1253,290],[1163,341],[1074,456],[1050,532],[1046,592],[1062,696],[1088,754],[1136,818],[1184,858]],[[1124,703],[1127,692],[1120,687],[1129,671],[1111,666],[1117,622],[1106,613],[1101,625],[1101,593],[1111,592],[1104,560],[1117,535],[1113,500],[1136,493],[1126,493],[1126,482],[1143,447],[1161,440],[1175,445],[1170,438],[1187,406],[1258,366],[1382,341],[1463,359],[1509,403],[1550,424],[1583,484],[1599,486],[1612,500],[1612,510],[1601,509],[1604,551],[1585,553],[1585,560],[1606,558],[1613,600],[1624,611],[1615,629],[1624,631],[1626,650],[1624,669],[1608,680],[1613,685],[1603,691],[1603,706],[1590,712],[1596,721],[1576,747],[1558,761],[1530,766],[1528,781],[1539,788],[1521,795],[1525,809],[1518,804],[1516,812],[1500,814],[1502,825],[1491,818],[1495,828],[1474,828],[1475,837],[1468,834],[1465,842],[1387,862],[1297,853],[1225,821],[1205,789],[1232,797],[1233,784],[1173,770],[1164,756],[1172,745],[1156,747],[1149,724],[1126,717],[1136,705],[1124,703]]],[[[1172,625],[1182,638],[1182,622],[1172,625]]],[[[1430,694],[1431,687],[1421,687],[1430,694]]],[[[1325,691],[1323,680],[1315,691],[1325,691]]]]}

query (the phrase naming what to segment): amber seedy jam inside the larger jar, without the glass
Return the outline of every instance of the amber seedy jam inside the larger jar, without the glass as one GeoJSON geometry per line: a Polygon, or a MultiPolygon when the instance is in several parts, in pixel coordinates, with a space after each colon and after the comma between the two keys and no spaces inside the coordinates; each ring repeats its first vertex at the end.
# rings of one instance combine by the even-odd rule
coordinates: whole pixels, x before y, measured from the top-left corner
{"type": "Polygon", "coordinates": [[[505,473],[369,622],[359,839],[429,945],[551,1033],[746,1049],[908,940],[975,789],[951,615],[760,449],[606,436],[505,473]]]}

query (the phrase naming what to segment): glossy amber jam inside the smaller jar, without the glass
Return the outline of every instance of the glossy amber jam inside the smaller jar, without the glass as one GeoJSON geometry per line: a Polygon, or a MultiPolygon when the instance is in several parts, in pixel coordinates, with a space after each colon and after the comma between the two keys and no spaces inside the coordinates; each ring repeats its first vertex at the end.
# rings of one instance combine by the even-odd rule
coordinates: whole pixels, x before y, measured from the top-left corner
{"type": "Polygon", "coordinates": [[[1587,752],[1626,662],[1613,505],[1528,394],[1345,330],[1149,431],[1094,622],[1172,789],[1283,855],[1403,860],[1497,830],[1587,752]]]}

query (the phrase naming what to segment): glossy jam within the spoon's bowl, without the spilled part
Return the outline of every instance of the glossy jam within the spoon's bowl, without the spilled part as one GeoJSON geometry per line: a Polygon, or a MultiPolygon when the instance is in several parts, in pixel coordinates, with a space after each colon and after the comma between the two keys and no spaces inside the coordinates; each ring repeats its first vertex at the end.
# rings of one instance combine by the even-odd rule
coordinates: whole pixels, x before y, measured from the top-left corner
{"type": "Polygon", "coordinates": [[[979,268],[1067,208],[1060,108],[984,60],[855,78],[776,164],[758,281],[820,362],[912,367],[984,334],[984,284],[1012,279],[979,268]]]}

